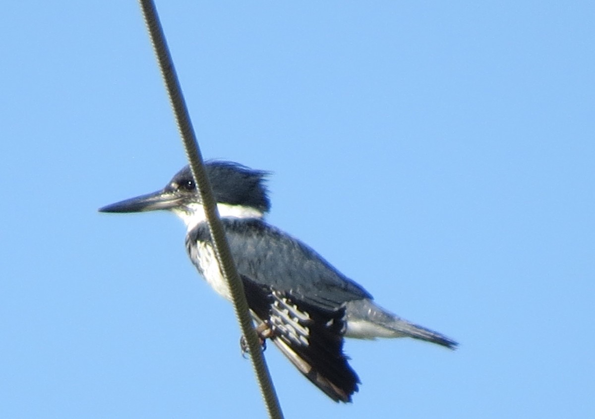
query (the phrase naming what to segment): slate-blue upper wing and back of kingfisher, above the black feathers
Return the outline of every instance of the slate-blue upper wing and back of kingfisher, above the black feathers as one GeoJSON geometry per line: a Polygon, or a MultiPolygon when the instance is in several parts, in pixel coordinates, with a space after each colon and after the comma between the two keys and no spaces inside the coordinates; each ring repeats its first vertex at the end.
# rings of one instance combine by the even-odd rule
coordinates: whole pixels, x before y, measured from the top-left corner
{"type": "MultiPolygon", "coordinates": [[[[240,275],[308,304],[337,309],[345,302],[372,298],[314,250],[259,219],[223,218],[231,255],[240,275]]],[[[199,224],[190,240],[208,240],[199,224]]]]}

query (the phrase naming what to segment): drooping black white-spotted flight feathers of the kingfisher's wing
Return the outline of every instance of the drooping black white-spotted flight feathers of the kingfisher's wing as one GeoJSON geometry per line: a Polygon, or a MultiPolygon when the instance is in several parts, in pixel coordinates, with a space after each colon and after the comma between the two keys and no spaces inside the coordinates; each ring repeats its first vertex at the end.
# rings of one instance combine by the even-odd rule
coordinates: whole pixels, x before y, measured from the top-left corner
{"type": "Polygon", "coordinates": [[[242,276],[248,305],[283,355],[334,401],[350,402],[359,379],[343,354],[345,308],[327,310],[296,301],[242,276]]]}

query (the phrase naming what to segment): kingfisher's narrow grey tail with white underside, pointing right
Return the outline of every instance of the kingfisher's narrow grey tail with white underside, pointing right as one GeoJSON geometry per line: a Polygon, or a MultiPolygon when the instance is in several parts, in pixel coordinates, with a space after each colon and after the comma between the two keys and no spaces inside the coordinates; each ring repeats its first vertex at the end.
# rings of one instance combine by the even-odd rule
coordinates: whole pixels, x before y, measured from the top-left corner
{"type": "Polygon", "coordinates": [[[455,349],[458,343],[441,333],[404,320],[374,304],[370,299],[350,301],[346,305],[346,337],[413,337],[455,349]]]}

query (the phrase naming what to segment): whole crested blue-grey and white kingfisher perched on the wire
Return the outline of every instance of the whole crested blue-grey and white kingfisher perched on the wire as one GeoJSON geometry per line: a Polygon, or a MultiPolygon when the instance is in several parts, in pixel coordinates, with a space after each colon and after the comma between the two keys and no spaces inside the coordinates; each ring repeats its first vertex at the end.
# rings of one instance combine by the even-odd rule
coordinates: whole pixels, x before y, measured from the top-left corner
{"type": "MultiPolygon", "coordinates": [[[[267,224],[268,172],[227,161],[209,161],[205,168],[259,336],[274,342],[331,399],[350,402],[358,391],[359,378],[343,354],[343,337],[409,336],[456,348],[454,340],[381,308],[313,249],[267,224]]],[[[192,263],[217,293],[231,299],[188,166],[164,189],[99,211],[156,209],[168,209],[184,221],[192,263]]]]}

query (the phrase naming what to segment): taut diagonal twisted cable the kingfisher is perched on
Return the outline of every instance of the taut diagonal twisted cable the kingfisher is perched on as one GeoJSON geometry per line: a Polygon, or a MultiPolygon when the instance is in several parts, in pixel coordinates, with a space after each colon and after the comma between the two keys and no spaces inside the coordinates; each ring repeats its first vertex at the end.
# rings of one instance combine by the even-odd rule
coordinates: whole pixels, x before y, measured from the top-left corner
{"type": "Polygon", "coordinates": [[[223,277],[229,284],[231,298],[233,300],[234,308],[236,309],[236,316],[240,323],[242,334],[246,337],[246,341],[248,342],[248,348],[251,355],[250,358],[252,359],[252,365],[258,379],[262,397],[264,398],[267,407],[268,415],[271,419],[282,419],[283,412],[281,412],[277,394],[275,393],[267,364],[262,355],[261,343],[252,326],[252,319],[250,318],[248,302],[246,301],[243,285],[234,265],[233,258],[231,257],[223,227],[221,226],[221,220],[219,219],[211,185],[206,176],[201,151],[198,147],[198,142],[196,142],[190,115],[188,114],[186,102],[184,101],[184,96],[181,92],[176,68],[174,68],[174,63],[171,59],[165,35],[155,9],[155,4],[152,0],[139,0],[139,4],[143,12],[143,17],[145,18],[149,36],[151,37],[159,68],[161,69],[161,75],[165,82],[171,107],[173,108],[176,117],[180,136],[182,137],[184,149],[186,150],[186,156],[190,162],[190,168],[192,169],[192,174],[196,185],[198,185],[203,206],[205,207],[206,220],[211,232],[212,245],[219,262],[221,274],[223,274],[223,277]]]}

